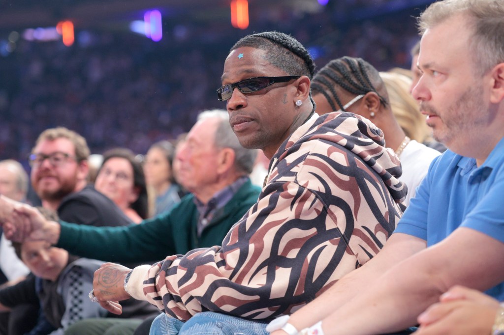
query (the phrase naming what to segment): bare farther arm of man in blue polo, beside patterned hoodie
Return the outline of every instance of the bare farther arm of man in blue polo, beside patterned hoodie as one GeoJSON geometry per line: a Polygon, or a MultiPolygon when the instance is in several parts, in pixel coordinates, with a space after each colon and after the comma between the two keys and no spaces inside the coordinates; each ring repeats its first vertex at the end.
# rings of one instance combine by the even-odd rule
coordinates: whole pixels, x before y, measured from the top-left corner
{"type": "MultiPolygon", "coordinates": [[[[345,303],[354,299],[388,269],[418,253],[425,246],[425,240],[421,238],[402,233],[393,234],[378,255],[359,269],[350,272],[317,299],[292,314],[289,323],[298,330],[317,323],[333,313],[334,308],[338,310],[345,303]]],[[[281,335],[285,332],[278,330],[273,334],[281,335]]]]}

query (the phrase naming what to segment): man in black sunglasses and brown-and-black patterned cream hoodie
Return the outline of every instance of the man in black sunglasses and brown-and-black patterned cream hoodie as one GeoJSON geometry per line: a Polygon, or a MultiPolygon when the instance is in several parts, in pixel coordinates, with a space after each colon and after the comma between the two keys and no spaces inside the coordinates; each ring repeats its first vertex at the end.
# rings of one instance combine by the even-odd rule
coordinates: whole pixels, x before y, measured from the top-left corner
{"type": "Polygon", "coordinates": [[[314,115],[313,73],[306,49],[282,33],[231,48],[217,95],[241,145],[271,159],[259,200],[220,246],[133,271],[103,266],[94,281],[102,306],[119,312],[115,301],[130,295],[150,301],[165,312],[151,334],[265,334],[268,319],[379,252],[406,195],[399,159],[368,120],[314,115]]]}

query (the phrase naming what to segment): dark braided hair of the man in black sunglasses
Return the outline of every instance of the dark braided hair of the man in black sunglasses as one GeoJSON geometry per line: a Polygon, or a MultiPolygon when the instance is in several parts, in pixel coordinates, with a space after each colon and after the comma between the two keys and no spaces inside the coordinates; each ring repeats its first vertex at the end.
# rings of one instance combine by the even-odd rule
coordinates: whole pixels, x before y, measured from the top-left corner
{"type": "MultiPolygon", "coordinates": [[[[236,42],[230,51],[237,48],[251,47],[266,50],[266,60],[289,75],[306,75],[308,78],[315,74],[315,63],[308,50],[294,37],[277,31],[269,31],[247,35],[236,42]]],[[[315,110],[315,102],[309,94],[315,110]]]]}

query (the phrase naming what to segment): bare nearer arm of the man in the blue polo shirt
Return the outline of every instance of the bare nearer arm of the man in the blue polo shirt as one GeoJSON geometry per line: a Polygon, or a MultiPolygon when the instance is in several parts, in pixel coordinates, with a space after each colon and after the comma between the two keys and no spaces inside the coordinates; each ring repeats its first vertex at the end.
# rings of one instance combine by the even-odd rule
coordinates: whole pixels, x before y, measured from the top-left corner
{"type": "Polygon", "coordinates": [[[394,332],[458,284],[486,290],[504,278],[504,243],[470,228],[394,266],[357,297],[323,319],[327,335],[394,332]]]}

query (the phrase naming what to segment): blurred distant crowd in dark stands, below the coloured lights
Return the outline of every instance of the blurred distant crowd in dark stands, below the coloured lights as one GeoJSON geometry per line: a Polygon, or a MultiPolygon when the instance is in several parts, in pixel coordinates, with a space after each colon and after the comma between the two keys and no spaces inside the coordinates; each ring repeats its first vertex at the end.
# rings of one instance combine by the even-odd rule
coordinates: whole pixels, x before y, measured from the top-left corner
{"type": "MultiPolygon", "coordinates": [[[[409,67],[418,39],[410,12],[346,22],[337,13],[265,13],[251,18],[248,30],[292,34],[319,67],[343,55],[379,70],[409,67]]],[[[152,143],[186,132],[201,110],[224,107],[215,95],[222,60],[246,33],[223,22],[177,26],[159,43],[102,31],[76,31],[70,48],[20,40],[0,62],[0,158],[27,167],[36,136],[55,126],[82,134],[92,153],[125,146],[145,154],[152,143]]]]}

